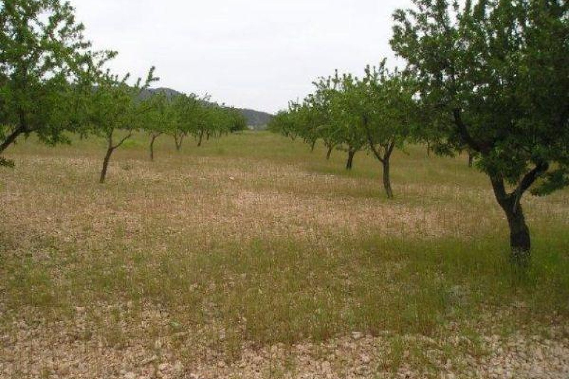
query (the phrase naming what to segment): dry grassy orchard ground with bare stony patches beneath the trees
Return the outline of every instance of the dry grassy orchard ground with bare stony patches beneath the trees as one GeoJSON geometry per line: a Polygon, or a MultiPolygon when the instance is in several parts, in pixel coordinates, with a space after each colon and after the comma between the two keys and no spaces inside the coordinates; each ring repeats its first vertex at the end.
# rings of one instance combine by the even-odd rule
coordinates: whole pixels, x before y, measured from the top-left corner
{"type": "Polygon", "coordinates": [[[0,169],[2,378],[492,377],[512,338],[569,373],[567,190],[523,199],[521,279],[466,156],[395,153],[390,201],[364,152],[347,172],[267,132],[162,137],[154,162],[139,135],[100,185],[104,149],[21,140],[0,169]]]}

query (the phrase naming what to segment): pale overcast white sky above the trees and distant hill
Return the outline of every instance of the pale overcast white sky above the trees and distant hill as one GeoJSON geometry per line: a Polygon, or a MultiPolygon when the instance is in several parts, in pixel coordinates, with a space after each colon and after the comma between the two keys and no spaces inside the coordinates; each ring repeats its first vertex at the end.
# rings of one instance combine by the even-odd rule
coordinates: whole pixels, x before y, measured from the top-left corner
{"type": "Polygon", "coordinates": [[[276,112],[318,76],[394,62],[391,14],[409,0],[71,0],[96,49],[119,52],[118,74],[276,112]]]}

